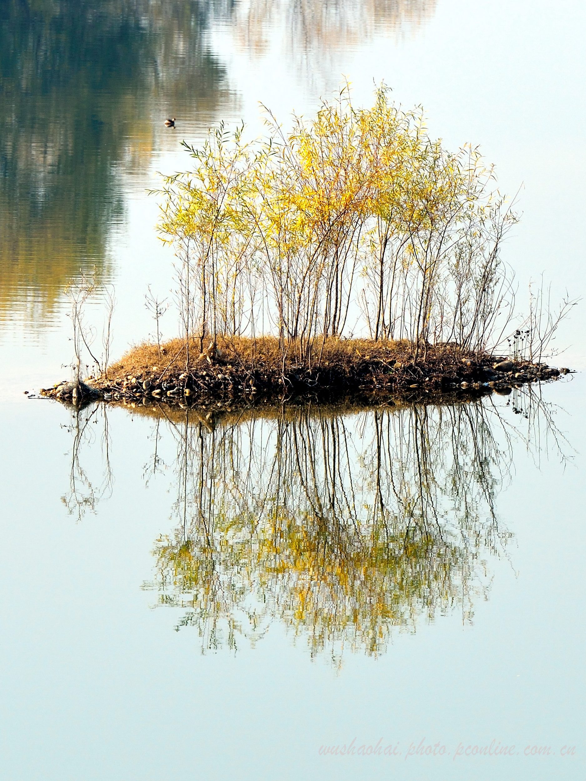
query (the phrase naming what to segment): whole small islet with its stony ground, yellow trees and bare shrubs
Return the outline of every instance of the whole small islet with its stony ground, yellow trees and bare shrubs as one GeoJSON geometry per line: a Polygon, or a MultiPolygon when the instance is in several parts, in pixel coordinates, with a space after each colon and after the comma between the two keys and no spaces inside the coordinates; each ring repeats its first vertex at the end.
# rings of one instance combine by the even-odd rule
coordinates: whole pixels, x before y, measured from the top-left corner
{"type": "MultiPolygon", "coordinates": [[[[185,405],[296,397],[510,393],[567,369],[544,362],[561,319],[548,291],[516,311],[501,258],[517,222],[477,148],[449,152],[420,111],[356,109],[348,87],[285,133],[210,130],[159,191],[174,250],[180,337],[161,340],[166,305],[151,294],[156,341],[109,365],[84,333],[89,288],[73,294],[72,381],[45,395],[185,405]],[[82,381],[82,352],[97,367],[82,381]]],[[[150,290],[150,288],[149,288],[150,290]]],[[[112,302],[112,298],[109,299],[112,302]]],[[[105,344],[109,344],[108,338],[105,344]]]]}

